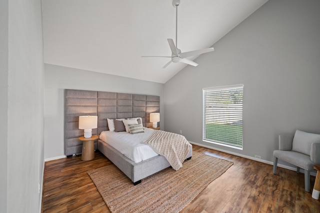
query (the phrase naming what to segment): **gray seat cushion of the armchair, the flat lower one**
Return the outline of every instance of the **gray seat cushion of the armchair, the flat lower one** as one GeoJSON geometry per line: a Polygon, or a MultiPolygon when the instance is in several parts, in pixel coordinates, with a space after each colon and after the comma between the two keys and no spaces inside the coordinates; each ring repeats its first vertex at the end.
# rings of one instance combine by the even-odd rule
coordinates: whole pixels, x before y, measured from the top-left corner
{"type": "Polygon", "coordinates": [[[274,150],[273,156],[304,170],[313,170],[314,163],[310,160],[310,156],[308,155],[294,151],[274,150]]]}

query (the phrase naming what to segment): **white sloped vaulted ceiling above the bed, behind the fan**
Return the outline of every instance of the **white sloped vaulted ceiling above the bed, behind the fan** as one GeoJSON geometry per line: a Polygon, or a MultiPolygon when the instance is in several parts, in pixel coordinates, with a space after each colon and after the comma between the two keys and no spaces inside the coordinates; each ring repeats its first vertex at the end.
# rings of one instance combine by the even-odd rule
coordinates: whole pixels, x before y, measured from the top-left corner
{"type": "MultiPolygon", "coordinates": [[[[178,48],[214,47],[266,1],[180,0],[178,48]]],[[[158,83],[186,66],[171,63],[163,69],[169,58],[141,58],[170,56],[172,0],[42,0],[42,17],[45,63],[158,83]]],[[[214,52],[205,54],[214,57],[214,52]]]]}

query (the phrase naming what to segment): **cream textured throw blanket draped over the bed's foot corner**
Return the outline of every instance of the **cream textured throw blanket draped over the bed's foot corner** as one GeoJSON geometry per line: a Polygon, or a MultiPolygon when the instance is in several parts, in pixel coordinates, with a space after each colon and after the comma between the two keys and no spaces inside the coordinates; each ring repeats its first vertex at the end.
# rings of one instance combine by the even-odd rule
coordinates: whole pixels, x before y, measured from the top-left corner
{"type": "Polygon", "coordinates": [[[191,146],[184,136],[161,130],[155,130],[150,138],[141,143],[163,155],[174,170],[182,167],[191,146]]]}

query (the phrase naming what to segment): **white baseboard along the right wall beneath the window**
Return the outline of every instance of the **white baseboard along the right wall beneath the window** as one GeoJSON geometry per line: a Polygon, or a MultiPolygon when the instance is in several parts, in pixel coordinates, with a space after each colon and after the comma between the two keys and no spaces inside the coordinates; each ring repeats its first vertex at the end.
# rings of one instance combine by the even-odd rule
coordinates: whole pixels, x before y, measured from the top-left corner
{"type": "MultiPolygon", "coordinates": [[[[200,147],[205,147],[205,148],[208,148],[208,149],[212,149],[212,150],[216,150],[216,151],[228,153],[228,154],[231,154],[231,155],[239,156],[239,157],[242,157],[242,158],[247,158],[247,159],[250,159],[250,160],[253,160],[253,161],[258,161],[258,162],[261,162],[261,163],[273,165],[273,162],[271,162],[271,161],[266,161],[266,160],[262,160],[262,159],[257,159],[257,158],[251,157],[251,156],[241,155],[241,154],[238,154],[238,153],[235,153],[235,152],[229,152],[229,151],[226,151],[226,150],[222,150],[222,149],[218,149],[218,148],[206,146],[206,145],[203,145],[203,144],[194,143],[194,142],[192,142],[192,141],[189,141],[189,143],[190,143],[190,144],[197,145],[197,146],[200,146],[200,147]]],[[[283,164],[277,164],[277,167],[284,168],[284,169],[287,169],[287,170],[296,171],[296,167],[290,167],[290,166],[283,165],[283,164]]],[[[303,169],[300,169],[300,173],[303,173],[303,174],[304,174],[304,170],[303,170],[303,169]]],[[[312,172],[312,171],[311,171],[311,172],[310,172],[310,175],[316,176],[316,172],[312,172]]]]}

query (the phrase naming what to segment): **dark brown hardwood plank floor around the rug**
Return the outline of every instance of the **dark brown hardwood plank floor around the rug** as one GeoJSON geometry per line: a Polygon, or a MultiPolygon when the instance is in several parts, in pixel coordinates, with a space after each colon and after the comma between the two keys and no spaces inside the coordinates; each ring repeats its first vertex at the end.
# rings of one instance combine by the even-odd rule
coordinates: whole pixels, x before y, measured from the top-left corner
{"type": "MultiPolygon", "coordinates": [[[[304,191],[304,176],[223,152],[193,145],[234,164],[210,183],[181,213],[320,213],[320,201],[304,191]]],[[[42,213],[109,213],[88,171],[112,164],[100,152],[45,162],[42,213]]],[[[311,190],[315,177],[311,177],[311,190]]],[[[143,180],[142,180],[143,181],[143,180]]]]}

